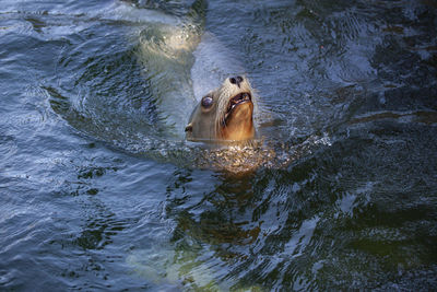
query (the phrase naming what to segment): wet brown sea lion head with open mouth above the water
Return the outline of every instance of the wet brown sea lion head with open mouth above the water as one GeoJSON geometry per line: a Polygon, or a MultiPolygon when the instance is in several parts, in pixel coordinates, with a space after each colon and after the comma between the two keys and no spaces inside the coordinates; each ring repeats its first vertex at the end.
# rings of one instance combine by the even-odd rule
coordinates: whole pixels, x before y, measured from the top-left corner
{"type": "Polygon", "coordinates": [[[227,78],[196,106],[185,129],[187,140],[241,141],[253,138],[253,104],[248,79],[227,78]]]}

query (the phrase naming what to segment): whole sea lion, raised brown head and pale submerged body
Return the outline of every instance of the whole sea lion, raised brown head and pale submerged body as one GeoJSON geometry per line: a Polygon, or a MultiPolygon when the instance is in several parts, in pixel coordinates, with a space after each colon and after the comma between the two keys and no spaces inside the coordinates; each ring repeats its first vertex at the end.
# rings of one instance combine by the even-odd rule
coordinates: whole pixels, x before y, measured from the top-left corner
{"type": "Polygon", "coordinates": [[[140,34],[139,59],[160,121],[168,136],[178,139],[187,122],[188,140],[250,139],[255,136],[252,89],[233,54],[204,33],[204,14],[205,2],[197,0],[179,22],[151,24],[140,34]]]}

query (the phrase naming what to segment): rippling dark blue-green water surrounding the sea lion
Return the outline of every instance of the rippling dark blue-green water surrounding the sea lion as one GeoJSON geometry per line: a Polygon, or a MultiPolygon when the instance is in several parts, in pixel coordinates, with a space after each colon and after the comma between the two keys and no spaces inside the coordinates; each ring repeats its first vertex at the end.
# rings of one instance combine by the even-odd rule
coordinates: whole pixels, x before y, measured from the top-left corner
{"type": "Polygon", "coordinates": [[[240,174],[138,60],[190,1],[133,2],[0,2],[1,291],[436,289],[436,1],[210,1],[281,161],[240,174]]]}

